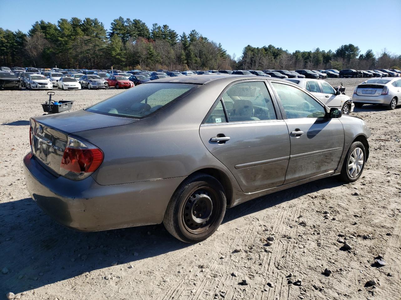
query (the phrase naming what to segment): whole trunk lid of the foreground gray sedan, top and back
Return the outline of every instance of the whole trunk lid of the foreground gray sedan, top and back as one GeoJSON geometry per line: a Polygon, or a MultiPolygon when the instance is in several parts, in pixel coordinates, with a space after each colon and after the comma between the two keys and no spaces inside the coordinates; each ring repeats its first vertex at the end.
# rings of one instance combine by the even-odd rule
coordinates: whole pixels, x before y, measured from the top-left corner
{"type": "Polygon", "coordinates": [[[138,120],[96,114],[85,110],[31,118],[32,152],[45,168],[52,173],[59,174],[69,134],[131,124],[136,121],[138,120]]]}

